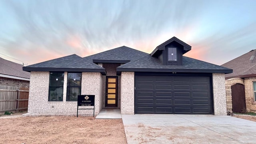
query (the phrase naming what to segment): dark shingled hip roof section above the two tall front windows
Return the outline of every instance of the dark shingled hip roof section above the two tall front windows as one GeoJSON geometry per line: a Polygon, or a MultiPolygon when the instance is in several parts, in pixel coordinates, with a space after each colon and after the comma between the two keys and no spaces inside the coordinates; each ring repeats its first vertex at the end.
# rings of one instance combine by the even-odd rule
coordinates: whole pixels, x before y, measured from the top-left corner
{"type": "Polygon", "coordinates": [[[56,58],[38,64],[33,64],[23,68],[26,71],[59,71],[59,72],[101,72],[106,74],[106,70],[92,61],[87,61],[76,54],[56,58]]]}

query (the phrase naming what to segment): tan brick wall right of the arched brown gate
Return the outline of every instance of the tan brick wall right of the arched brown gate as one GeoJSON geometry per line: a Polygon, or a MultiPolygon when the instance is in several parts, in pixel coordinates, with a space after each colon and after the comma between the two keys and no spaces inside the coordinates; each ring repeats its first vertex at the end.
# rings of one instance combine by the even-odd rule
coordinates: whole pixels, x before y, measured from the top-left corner
{"type": "Polygon", "coordinates": [[[256,102],[254,101],[253,82],[256,82],[256,77],[244,78],[244,92],[246,111],[256,113],[256,102]]]}

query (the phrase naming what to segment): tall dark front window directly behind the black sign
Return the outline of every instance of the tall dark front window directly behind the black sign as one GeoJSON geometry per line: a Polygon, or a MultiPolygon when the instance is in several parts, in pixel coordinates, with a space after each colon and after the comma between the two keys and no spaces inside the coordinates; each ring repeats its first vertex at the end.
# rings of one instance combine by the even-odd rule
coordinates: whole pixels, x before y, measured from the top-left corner
{"type": "Polygon", "coordinates": [[[77,101],[81,94],[81,73],[68,73],[67,101],[77,101]]]}

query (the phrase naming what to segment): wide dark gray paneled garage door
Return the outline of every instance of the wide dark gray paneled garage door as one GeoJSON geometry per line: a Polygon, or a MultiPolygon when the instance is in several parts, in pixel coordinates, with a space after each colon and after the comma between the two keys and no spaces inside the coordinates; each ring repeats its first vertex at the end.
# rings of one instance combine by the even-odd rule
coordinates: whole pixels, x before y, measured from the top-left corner
{"type": "Polygon", "coordinates": [[[135,76],[136,114],[212,114],[209,76],[135,76]]]}

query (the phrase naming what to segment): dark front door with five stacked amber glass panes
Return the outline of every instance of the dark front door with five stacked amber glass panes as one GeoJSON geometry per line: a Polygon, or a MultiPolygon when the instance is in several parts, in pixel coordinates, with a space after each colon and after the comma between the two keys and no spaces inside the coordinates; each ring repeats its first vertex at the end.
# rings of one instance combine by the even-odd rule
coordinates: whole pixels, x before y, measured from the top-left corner
{"type": "Polygon", "coordinates": [[[107,76],[106,77],[106,106],[117,107],[117,88],[118,77],[107,76]]]}

